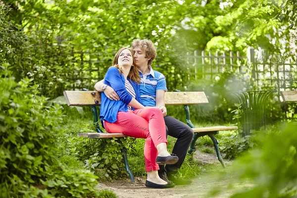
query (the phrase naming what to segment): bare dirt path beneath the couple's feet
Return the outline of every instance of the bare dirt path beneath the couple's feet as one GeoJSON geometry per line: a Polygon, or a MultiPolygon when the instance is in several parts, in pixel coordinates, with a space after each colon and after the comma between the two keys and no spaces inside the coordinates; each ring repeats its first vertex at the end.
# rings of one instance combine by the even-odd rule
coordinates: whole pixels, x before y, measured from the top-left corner
{"type": "MultiPolygon", "coordinates": [[[[194,158],[202,163],[213,164],[213,167],[218,171],[223,170],[215,154],[201,153],[197,150],[194,158]]],[[[227,167],[231,165],[231,162],[226,160],[225,162],[227,167]]],[[[251,182],[240,182],[238,179],[232,178],[231,175],[218,178],[213,175],[213,172],[217,171],[202,171],[201,175],[192,180],[193,183],[191,185],[175,186],[172,189],[146,188],[144,178],[135,178],[136,186],[132,185],[130,180],[127,179],[113,183],[99,183],[99,188],[111,190],[119,198],[205,198],[218,189],[223,191],[213,196],[214,198],[229,198],[235,190],[251,186],[251,182]],[[236,186],[229,188],[231,181],[236,183],[236,186]]]]}

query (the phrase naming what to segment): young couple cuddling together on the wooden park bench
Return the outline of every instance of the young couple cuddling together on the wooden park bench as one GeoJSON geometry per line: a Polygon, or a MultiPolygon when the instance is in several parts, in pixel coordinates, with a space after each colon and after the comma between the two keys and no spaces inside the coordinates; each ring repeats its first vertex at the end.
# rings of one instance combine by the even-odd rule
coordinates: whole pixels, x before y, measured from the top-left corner
{"type": "Polygon", "coordinates": [[[174,185],[166,175],[175,184],[190,183],[177,180],[174,174],[186,157],[194,132],[183,122],[167,116],[165,77],[150,66],[155,57],[151,41],[133,41],[132,49],[122,48],[116,53],[113,66],[95,89],[103,92],[100,119],[107,132],[146,139],[146,186],[170,188],[174,185]],[[173,154],[167,151],[167,135],[177,138],[173,154]]]}

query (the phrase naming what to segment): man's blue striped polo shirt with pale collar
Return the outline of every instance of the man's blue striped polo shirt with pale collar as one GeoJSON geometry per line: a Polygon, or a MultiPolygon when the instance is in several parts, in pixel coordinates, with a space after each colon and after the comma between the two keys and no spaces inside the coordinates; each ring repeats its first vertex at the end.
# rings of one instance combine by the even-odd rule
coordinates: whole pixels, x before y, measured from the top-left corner
{"type": "Polygon", "coordinates": [[[167,92],[166,80],[163,74],[154,71],[150,65],[148,65],[148,68],[150,69],[150,71],[145,75],[143,75],[141,71],[139,71],[139,91],[142,102],[145,106],[155,106],[156,91],[164,90],[165,92],[167,92]]]}

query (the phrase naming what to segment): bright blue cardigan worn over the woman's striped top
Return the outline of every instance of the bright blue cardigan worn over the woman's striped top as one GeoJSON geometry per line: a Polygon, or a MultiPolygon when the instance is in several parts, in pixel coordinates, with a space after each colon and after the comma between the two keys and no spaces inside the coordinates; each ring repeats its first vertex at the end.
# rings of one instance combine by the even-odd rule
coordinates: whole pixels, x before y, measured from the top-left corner
{"type": "MultiPolygon", "coordinates": [[[[139,92],[139,85],[136,82],[131,81],[129,78],[128,80],[135,90],[136,100],[142,104],[139,92]]],[[[105,96],[104,92],[101,93],[100,120],[102,126],[103,120],[106,120],[110,123],[115,122],[117,120],[118,111],[127,112],[127,104],[129,104],[133,98],[126,90],[124,75],[120,74],[119,70],[115,67],[110,67],[107,70],[104,78],[104,84],[112,87],[119,96],[120,100],[110,100],[105,96]]],[[[132,109],[135,110],[134,108],[132,109]]]]}

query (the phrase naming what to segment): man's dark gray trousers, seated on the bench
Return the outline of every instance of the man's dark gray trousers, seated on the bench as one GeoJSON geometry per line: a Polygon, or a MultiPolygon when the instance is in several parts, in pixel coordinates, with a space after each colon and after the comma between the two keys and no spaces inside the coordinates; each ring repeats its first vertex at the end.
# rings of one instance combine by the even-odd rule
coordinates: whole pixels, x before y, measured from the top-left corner
{"type": "Polygon", "coordinates": [[[166,125],[166,137],[169,135],[177,138],[172,153],[176,154],[179,160],[176,164],[167,164],[166,167],[159,165],[160,170],[158,170],[158,173],[162,174],[163,172],[167,172],[170,174],[170,172],[175,172],[182,166],[192,142],[194,131],[187,124],[174,117],[165,116],[164,120],[166,125]]]}

